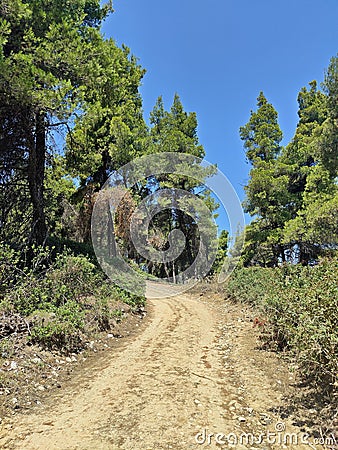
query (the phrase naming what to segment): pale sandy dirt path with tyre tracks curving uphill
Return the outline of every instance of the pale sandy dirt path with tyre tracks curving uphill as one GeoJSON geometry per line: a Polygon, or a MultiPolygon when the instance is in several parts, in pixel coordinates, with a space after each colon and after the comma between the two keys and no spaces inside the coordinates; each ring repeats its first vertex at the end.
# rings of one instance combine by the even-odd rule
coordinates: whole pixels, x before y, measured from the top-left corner
{"type": "Polygon", "coordinates": [[[300,430],[279,417],[290,374],[255,350],[246,311],[189,295],[149,303],[149,324],[136,338],[47,407],[17,416],[0,448],[321,448],[302,445],[300,430]],[[269,441],[259,437],[268,429],[269,441]],[[299,433],[298,443],[283,447],[277,439],[286,433],[299,433]]]}

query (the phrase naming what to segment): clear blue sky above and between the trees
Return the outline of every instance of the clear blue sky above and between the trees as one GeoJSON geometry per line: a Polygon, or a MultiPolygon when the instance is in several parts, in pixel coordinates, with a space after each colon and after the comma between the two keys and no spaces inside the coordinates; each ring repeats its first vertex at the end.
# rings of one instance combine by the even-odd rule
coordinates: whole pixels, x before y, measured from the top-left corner
{"type": "Polygon", "coordinates": [[[159,95],[177,92],[196,111],[206,159],[239,197],[248,180],[238,130],[264,91],[279,113],[283,143],[297,124],[297,94],[321,82],[338,51],[338,0],[115,0],[106,37],[130,47],[147,70],[148,119],[159,95]]]}

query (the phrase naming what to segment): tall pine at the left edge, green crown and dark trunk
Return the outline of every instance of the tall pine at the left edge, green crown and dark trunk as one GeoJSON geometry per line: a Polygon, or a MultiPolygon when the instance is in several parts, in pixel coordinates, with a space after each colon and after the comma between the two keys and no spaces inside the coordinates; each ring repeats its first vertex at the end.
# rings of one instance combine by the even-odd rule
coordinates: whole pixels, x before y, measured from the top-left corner
{"type": "Polygon", "coordinates": [[[110,10],[98,0],[53,0],[48,7],[37,0],[2,2],[1,153],[8,154],[14,144],[24,167],[31,203],[26,238],[31,243],[43,244],[47,238],[44,185],[50,133],[61,124],[69,126],[81,109],[87,82],[97,75],[92,55],[102,40],[100,23],[110,10]],[[9,128],[8,122],[13,123],[9,128]]]}

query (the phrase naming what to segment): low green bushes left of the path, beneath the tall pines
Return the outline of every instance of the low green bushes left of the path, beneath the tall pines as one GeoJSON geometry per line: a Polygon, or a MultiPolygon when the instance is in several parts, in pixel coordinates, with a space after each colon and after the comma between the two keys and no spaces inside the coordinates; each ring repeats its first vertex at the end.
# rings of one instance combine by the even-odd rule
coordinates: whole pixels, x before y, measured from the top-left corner
{"type": "Polygon", "coordinates": [[[107,280],[87,256],[65,250],[51,261],[48,250],[35,253],[28,267],[22,254],[0,246],[0,312],[23,317],[33,343],[78,351],[89,333],[111,328],[122,303],[135,310],[145,304],[144,296],[107,280]]]}

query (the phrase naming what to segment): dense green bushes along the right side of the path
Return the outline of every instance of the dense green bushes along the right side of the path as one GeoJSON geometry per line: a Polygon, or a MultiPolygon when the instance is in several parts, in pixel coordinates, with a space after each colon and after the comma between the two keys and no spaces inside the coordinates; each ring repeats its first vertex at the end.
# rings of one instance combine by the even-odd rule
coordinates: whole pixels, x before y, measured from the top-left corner
{"type": "Polygon", "coordinates": [[[226,294],[258,307],[279,349],[297,357],[301,374],[332,391],[338,385],[338,258],[314,267],[235,271],[226,294]]]}

